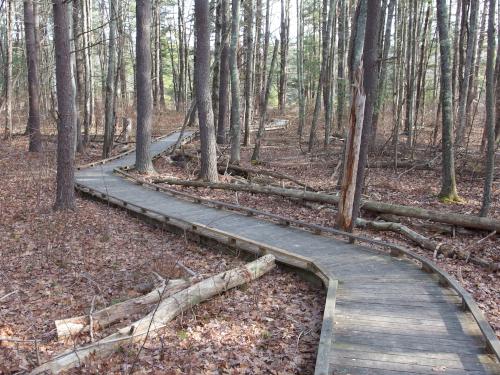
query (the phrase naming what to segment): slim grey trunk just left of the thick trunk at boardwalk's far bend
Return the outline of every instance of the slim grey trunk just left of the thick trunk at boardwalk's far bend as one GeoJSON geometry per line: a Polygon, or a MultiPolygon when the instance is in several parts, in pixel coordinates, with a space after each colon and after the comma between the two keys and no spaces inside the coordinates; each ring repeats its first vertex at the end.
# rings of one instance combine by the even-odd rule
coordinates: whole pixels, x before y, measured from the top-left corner
{"type": "Polygon", "coordinates": [[[102,152],[102,156],[105,159],[111,156],[115,135],[116,19],[118,17],[117,0],[109,1],[109,17],[108,75],[106,77],[104,146],[102,152]]]}

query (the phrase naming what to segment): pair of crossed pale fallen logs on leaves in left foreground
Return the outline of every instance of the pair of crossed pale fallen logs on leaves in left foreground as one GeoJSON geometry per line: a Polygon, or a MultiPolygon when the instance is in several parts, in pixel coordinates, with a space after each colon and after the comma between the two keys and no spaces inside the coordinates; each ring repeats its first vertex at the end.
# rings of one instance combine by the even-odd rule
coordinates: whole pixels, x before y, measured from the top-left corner
{"type": "MultiPolygon", "coordinates": [[[[57,355],[49,362],[35,368],[31,374],[57,374],[80,365],[90,356],[102,358],[125,344],[144,343],[149,338],[157,336],[158,331],[177,315],[220,293],[255,280],[274,267],[275,257],[266,255],[242,267],[222,272],[194,284],[191,284],[191,281],[181,280],[165,282],[146,296],[96,312],[91,315],[92,320],[95,318],[97,325],[103,327],[111,324],[111,321],[116,322],[123,318],[128,314],[128,309],[142,310],[146,305],[150,309],[143,318],[117,329],[115,333],[94,343],[75,347],[57,355]],[[107,316],[108,313],[111,318],[107,316]]],[[[86,317],[66,319],[59,321],[57,325],[60,337],[92,329],[86,317]],[[74,329],[67,329],[65,326],[74,329]]]]}

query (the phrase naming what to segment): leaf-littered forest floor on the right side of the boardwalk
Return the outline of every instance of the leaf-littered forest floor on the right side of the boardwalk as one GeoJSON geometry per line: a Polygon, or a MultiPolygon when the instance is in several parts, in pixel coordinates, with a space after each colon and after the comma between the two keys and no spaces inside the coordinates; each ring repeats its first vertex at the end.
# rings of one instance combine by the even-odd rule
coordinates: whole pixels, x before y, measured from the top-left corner
{"type": "MultiPolygon", "coordinates": [[[[286,116],[282,118],[286,118],[286,116]]],[[[262,168],[285,173],[318,191],[337,193],[337,167],[340,160],[342,142],[339,139],[334,139],[332,145],[327,149],[324,149],[322,145],[318,145],[313,153],[303,152],[302,150],[307,150],[307,144],[301,143],[299,147],[295,118],[295,114],[289,116],[290,126],[287,130],[272,131],[266,134],[266,140],[261,150],[261,163],[259,165],[252,165],[250,163],[253,148],[243,147],[241,165],[254,169],[262,168]]],[[[307,139],[307,137],[304,138],[307,139]]],[[[219,160],[226,160],[229,153],[228,147],[220,147],[218,151],[219,160]]],[[[199,143],[195,142],[184,146],[178,154],[192,156],[198,152],[199,143]]],[[[465,152],[462,152],[458,155],[457,181],[463,202],[461,204],[447,204],[440,202],[437,198],[441,175],[439,154],[439,149],[436,147],[425,145],[416,147],[414,159],[420,162],[431,161],[431,167],[428,170],[420,170],[413,167],[398,168],[397,170],[394,170],[393,167],[369,168],[367,189],[364,198],[430,208],[442,212],[478,215],[481,207],[484,183],[482,178],[484,175],[484,163],[481,161],[481,157],[478,156],[478,153],[465,154],[465,152]]],[[[404,161],[409,159],[409,155],[405,154],[404,148],[400,150],[399,157],[404,161]]],[[[375,161],[392,163],[392,160],[389,153],[388,155],[371,157],[370,163],[374,163],[375,161]]],[[[199,171],[199,163],[197,158],[188,157],[173,161],[168,156],[164,156],[155,161],[155,168],[159,174],[159,176],[154,176],[155,179],[168,177],[195,180],[199,171]]],[[[498,199],[500,186],[498,175],[497,171],[491,209],[491,216],[497,219],[500,218],[500,200],[498,199]]],[[[241,179],[239,176],[236,176],[236,178],[241,179]]],[[[230,182],[233,179],[233,176],[221,176],[221,180],[225,182],[230,182]]],[[[253,178],[252,182],[277,185],[279,183],[278,180],[264,176],[253,178]]],[[[320,205],[304,206],[300,202],[265,194],[234,193],[230,191],[169,185],[168,187],[189,192],[203,198],[239,204],[322,226],[333,227],[335,224],[335,207],[320,205]]],[[[288,187],[300,188],[293,183],[288,184],[288,187]]],[[[375,219],[369,213],[365,213],[363,217],[372,220],[375,219]]],[[[489,262],[500,262],[500,241],[497,239],[498,235],[491,235],[485,239],[489,233],[460,230],[457,230],[455,233],[442,233],[436,232],[433,229],[422,229],[422,225],[425,224],[422,220],[401,218],[401,222],[432,238],[437,243],[446,243],[451,245],[453,249],[470,251],[472,254],[489,262]]],[[[437,259],[434,259],[432,252],[415,246],[395,233],[358,229],[356,233],[404,245],[429,259],[433,259],[442,269],[453,275],[473,295],[500,337],[500,272],[495,273],[464,260],[444,258],[441,255],[437,259]]]]}

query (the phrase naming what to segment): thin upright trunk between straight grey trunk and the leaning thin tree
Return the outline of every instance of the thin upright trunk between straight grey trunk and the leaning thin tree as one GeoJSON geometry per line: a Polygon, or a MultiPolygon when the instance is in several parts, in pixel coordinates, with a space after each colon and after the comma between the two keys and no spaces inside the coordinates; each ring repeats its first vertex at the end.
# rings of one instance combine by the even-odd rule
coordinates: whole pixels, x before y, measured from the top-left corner
{"type": "Polygon", "coordinates": [[[250,144],[250,126],[253,122],[253,82],[254,82],[254,38],[253,18],[255,16],[254,1],[246,2],[246,75],[245,75],[245,137],[243,144],[250,144]]]}

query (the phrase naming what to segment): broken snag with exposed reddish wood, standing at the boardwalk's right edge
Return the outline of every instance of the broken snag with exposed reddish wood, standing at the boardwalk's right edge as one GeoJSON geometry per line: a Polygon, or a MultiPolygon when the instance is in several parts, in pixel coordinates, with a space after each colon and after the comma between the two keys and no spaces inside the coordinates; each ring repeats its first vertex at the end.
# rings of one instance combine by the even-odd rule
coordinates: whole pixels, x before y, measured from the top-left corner
{"type": "Polygon", "coordinates": [[[340,229],[352,232],[354,210],[354,193],[356,192],[356,178],[358,175],[359,151],[361,148],[361,135],[363,133],[363,120],[365,117],[366,94],[363,90],[363,62],[360,63],[354,76],[352,90],[351,116],[349,119],[349,135],[347,137],[344,174],[342,189],[338,203],[339,213],[337,225],[340,229]]]}

